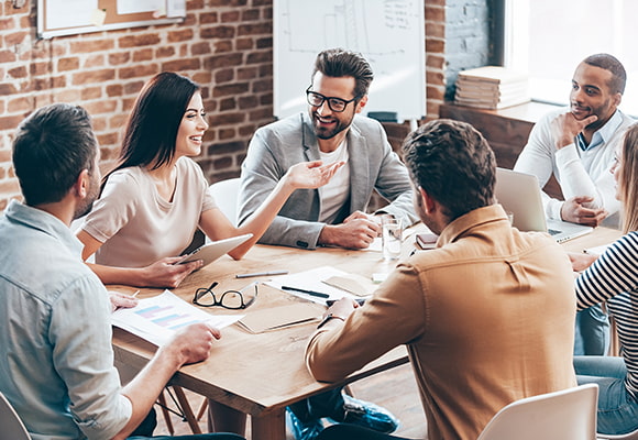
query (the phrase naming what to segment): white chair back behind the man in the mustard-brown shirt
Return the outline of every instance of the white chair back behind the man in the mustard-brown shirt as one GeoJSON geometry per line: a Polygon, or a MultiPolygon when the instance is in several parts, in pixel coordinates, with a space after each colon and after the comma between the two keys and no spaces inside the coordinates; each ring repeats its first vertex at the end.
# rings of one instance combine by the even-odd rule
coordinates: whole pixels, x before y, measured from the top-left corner
{"type": "Polygon", "coordinates": [[[490,420],[477,440],[595,440],[598,385],[516,400],[490,420]]]}

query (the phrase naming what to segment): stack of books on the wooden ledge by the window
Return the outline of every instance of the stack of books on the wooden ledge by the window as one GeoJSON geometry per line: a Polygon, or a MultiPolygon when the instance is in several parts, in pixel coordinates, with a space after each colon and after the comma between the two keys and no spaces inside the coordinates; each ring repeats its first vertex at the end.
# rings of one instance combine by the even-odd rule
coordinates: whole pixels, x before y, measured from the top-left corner
{"type": "Polygon", "coordinates": [[[481,109],[503,109],[529,101],[526,74],[499,66],[485,66],[459,73],[455,102],[481,109]]]}

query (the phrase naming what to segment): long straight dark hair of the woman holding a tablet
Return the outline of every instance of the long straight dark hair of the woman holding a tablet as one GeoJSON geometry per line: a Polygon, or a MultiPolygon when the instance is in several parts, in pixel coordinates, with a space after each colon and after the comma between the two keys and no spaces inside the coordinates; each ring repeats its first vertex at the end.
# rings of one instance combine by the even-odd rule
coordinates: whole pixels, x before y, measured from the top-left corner
{"type": "Polygon", "coordinates": [[[198,90],[193,80],[172,72],[151,78],[129,116],[118,165],[103,182],[118,169],[148,165],[156,169],[169,163],[184,112],[198,90]]]}

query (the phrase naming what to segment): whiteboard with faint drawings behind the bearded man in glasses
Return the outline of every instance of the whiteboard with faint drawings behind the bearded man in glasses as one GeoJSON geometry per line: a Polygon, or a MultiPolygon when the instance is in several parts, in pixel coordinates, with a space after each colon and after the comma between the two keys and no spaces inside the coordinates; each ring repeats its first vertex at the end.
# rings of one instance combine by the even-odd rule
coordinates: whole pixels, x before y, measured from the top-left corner
{"type": "Polygon", "coordinates": [[[274,111],[306,111],[317,54],[362,53],[374,72],[364,112],[394,111],[398,121],[426,114],[424,0],[274,0],[274,111]]]}

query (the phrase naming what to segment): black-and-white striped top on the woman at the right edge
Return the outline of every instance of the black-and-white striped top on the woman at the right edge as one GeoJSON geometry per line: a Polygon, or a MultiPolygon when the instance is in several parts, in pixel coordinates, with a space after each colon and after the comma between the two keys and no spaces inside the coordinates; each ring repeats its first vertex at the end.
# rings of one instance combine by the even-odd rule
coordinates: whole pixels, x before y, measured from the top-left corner
{"type": "Polygon", "coordinates": [[[575,285],[579,310],[607,301],[627,366],[625,386],[638,396],[638,232],[629,232],[609,245],[575,285]]]}

